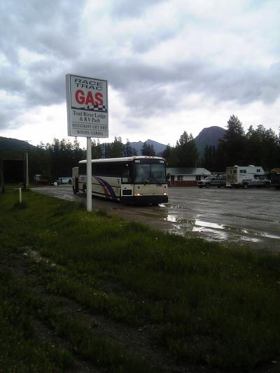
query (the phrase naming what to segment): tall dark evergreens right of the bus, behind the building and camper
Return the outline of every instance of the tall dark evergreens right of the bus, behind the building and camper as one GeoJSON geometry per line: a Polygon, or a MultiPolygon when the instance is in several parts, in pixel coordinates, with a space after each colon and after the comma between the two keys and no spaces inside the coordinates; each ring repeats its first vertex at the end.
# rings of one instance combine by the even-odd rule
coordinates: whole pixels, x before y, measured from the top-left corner
{"type": "Polygon", "coordinates": [[[225,171],[226,167],[238,164],[254,164],[267,171],[280,167],[279,136],[272,129],[258,125],[249,127],[248,132],[240,120],[232,115],[227,129],[217,146],[205,146],[200,158],[192,134],[183,132],[176,146],[167,146],[163,156],[169,167],[204,167],[211,172],[225,171]]]}

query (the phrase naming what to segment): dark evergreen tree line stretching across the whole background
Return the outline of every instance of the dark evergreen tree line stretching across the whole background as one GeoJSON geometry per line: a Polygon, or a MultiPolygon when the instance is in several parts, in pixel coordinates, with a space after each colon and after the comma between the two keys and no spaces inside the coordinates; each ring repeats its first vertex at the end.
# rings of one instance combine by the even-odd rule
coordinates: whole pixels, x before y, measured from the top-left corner
{"type": "MultiPolygon", "coordinates": [[[[217,128],[221,129],[221,127],[217,128]]],[[[202,132],[207,132],[208,136],[209,132],[213,132],[210,129],[202,132]]],[[[228,120],[227,129],[223,130],[224,134],[221,139],[217,138],[221,135],[221,131],[218,132],[218,135],[217,132],[215,134],[217,145],[205,146],[202,157],[193,135],[186,131],[180,136],[176,146],[168,145],[162,155],[169,167],[205,167],[212,172],[223,172],[227,166],[234,164],[241,166],[255,164],[267,171],[280,167],[279,136],[272,129],[258,125],[256,129],[251,126],[245,132],[240,120],[232,115],[228,120]]],[[[150,140],[142,143],[141,155],[155,155],[155,144],[159,143],[150,140]]],[[[78,139],[75,139],[73,143],[65,139],[54,139],[52,143],[31,146],[25,141],[0,138],[0,159],[23,159],[27,152],[29,178],[31,179],[35,174],[41,174],[43,178],[49,180],[59,176],[71,176],[72,167],[75,167],[79,160],[86,158],[86,151],[80,148],[78,139]]],[[[92,159],[130,157],[137,153],[139,152],[130,141],[123,144],[120,137],[116,137],[112,143],[100,144],[99,141],[92,141],[92,159]]]]}

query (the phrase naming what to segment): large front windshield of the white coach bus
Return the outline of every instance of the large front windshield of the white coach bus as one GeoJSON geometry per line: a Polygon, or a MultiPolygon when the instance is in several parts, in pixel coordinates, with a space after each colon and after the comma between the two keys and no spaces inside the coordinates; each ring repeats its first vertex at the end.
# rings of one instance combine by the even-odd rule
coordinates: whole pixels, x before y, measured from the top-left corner
{"type": "Polygon", "coordinates": [[[135,164],[135,183],[166,183],[165,164],[135,164]]]}

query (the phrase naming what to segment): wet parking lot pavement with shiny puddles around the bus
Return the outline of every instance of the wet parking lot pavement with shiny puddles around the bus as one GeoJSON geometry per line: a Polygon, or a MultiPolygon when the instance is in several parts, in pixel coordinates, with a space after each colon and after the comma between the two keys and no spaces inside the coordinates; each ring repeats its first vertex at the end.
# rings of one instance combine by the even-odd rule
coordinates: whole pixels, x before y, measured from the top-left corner
{"type": "MultiPolygon", "coordinates": [[[[71,185],[33,189],[86,204],[85,196],[73,195],[71,185]]],[[[173,187],[169,188],[169,202],[159,206],[126,206],[95,198],[92,205],[93,209],[188,237],[280,251],[280,192],[273,188],[173,187]]]]}

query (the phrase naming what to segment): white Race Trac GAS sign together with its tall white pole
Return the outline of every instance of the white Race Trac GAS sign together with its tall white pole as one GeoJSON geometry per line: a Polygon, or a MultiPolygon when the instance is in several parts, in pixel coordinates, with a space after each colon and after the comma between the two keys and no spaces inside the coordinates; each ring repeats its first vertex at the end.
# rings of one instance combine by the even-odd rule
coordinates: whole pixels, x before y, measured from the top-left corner
{"type": "Polygon", "coordinates": [[[87,211],[92,211],[92,137],[109,137],[107,80],[66,75],[68,136],[87,138],[87,211]]]}

